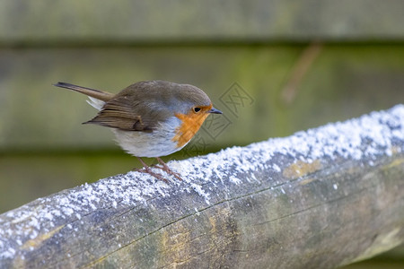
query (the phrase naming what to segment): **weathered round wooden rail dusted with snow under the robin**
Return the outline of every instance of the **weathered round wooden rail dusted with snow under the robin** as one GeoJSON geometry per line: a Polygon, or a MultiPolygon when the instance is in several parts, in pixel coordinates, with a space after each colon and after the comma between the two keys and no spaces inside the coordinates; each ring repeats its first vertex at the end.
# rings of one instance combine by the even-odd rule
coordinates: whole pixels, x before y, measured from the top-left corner
{"type": "Polygon", "coordinates": [[[2,268],[330,268],[404,241],[404,106],[0,215],[2,268]]]}

